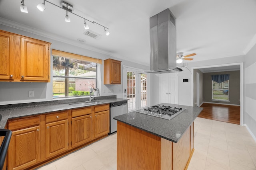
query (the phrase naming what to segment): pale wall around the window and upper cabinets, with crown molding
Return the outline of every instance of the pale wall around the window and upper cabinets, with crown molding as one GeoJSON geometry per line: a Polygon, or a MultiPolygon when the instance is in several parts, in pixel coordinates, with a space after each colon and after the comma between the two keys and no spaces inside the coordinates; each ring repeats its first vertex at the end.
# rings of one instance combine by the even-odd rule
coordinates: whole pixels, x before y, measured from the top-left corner
{"type": "MultiPolygon", "coordinates": [[[[40,35],[36,35],[31,32],[23,31],[13,27],[8,27],[6,25],[0,24],[0,29],[4,31],[9,31],[12,33],[17,33],[20,35],[25,35],[27,37],[32,37],[35,39],[40,39],[42,41],[47,41],[52,43],[51,49],[57,49],[61,51],[67,51],[70,53],[85,55],[88,57],[93,57],[97,59],[116,59],[122,61],[122,65],[132,66],[135,68],[140,68],[148,70],[148,66],[132,63],[130,61],[125,61],[106,55],[100,52],[88,50],[82,47],[77,47],[72,44],[63,43],[62,41],[57,41],[55,39],[50,39],[40,35]]],[[[86,45],[84,45],[86,47],[86,45]]],[[[122,67],[121,67],[122,68],[122,67]]],[[[117,95],[118,98],[122,98],[123,86],[121,85],[104,85],[103,76],[104,69],[103,64],[98,64],[99,74],[98,74],[98,88],[100,89],[101,96],[117,95]]],[[[52,60],[51,60],[51,70],[52,70],[52,60]]],[[[121,74],[122,77],[122,74],[121,74]]],[[[0,105],[3,104],[16,104],[16,103],[28,103],[28,102],[42,102],[52,100],[52,72],[51,72],[51,82],[49,83],[36,83],[36,82],[0,82],[0,105]],[[34,91],[34,97],[28,98],[28,91],[34,91]]]]}

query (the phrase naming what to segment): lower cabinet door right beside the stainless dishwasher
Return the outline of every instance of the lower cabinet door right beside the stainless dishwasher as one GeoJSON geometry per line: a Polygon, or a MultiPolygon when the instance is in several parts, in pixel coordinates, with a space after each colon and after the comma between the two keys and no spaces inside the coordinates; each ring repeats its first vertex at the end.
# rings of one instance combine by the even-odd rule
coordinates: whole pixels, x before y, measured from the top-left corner
{"type": "Polygon", "coordinates": [[[109,111],[94,113],[94,138],[109,133],[109,111]]]}

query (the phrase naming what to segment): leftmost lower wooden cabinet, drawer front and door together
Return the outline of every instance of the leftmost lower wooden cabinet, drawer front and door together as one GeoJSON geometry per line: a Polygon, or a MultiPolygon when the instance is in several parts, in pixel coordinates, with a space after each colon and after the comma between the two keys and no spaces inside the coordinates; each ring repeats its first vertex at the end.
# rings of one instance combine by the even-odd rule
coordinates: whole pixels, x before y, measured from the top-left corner
{"type": "Polygon", "coordinates": [[[8,169],[23,170],[40,161],[40,119],[30,117],[9,121],[12,138],[8,150],[8,169]]]}

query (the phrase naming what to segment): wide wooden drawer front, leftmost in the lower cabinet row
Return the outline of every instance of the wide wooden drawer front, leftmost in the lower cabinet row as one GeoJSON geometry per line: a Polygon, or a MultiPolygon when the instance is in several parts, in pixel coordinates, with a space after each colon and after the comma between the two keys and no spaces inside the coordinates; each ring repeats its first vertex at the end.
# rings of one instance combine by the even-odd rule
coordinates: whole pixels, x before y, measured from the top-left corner
{"type": "Polygon", "coordinates": [[[40,124],[40,117],[29,117],[24,119],[18,119],[8,122],[9,129],[11,131],[18,130],[18,129],[24,129],[27,127],[32,127],[40,124]]]}

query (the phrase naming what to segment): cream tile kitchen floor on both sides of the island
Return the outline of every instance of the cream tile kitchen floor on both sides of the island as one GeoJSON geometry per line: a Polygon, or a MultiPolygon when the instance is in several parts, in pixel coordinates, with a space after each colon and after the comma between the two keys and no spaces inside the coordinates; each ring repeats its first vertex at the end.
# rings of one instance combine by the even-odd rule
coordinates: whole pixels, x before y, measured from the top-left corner
{"type": "MultiPolygon", "coordinates": [[[[198,117],[194,149],[188,170],[256,170],[256,142],[246,127],[198,117]]],[[[38,170],[116,170],[116,133],[38,170]]]]}

